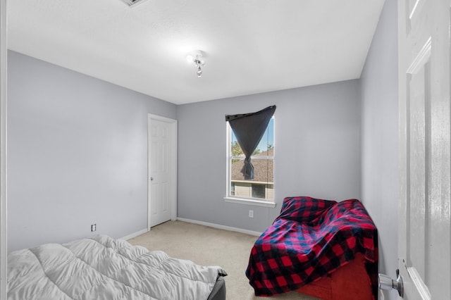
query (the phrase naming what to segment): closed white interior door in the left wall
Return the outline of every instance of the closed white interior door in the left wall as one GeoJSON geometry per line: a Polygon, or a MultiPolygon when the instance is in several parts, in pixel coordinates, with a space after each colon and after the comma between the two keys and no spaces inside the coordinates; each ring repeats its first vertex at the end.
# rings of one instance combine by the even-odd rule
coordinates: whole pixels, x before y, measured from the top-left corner
{"type": "Polygon", "coordinates": [[[177,217],[177,121],[149,115],[148,229],[177,217]]]}

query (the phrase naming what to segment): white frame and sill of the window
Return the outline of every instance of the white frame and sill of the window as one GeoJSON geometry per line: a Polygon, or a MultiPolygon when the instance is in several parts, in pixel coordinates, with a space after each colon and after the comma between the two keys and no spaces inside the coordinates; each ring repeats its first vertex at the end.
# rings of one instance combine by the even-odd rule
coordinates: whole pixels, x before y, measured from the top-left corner
{"type": "MultiPolygon", "coordinates": [[[[273,137],[274,140],[276,139],[276,130],[275,130],[275,118],[272,117],[274,125],[273,125],[273,137]]],[[[232,144],[232,128],[230,127],[230,124],[226,122],[226,196],[224,197],[224,200],[226,202],[230,203],[237,203],[237,204],[248,204],[248,205],[254,205],[254,206],[265,206],[265,207],[275,207],[276,206],[276,190],[273,189],[273,199],[261,199],[261,198],[253,198],[253,197],[243,197],[243,196],[232,196],[231,195],[231,162],[234,158],[244,159],[245,156],[232,156],[230,153],[231,150],[231,144],[232,144]]],[[[276,144],[274,142],[274,144],[276,144]]],[[[273,156],[251,156],[252,161],[257,159],[272,159],[273,165],[276,161],[276,155],[273,154],[273,156]]],[[[273,168],[274,170],[274,168],[273,168]]],[[[275,185],[275,177],[273,174],[273,187],[275,185]]],[[[249,184],[252,185],[252,181],[249,181],[249,184]]],[[[257,182],[254,182],[254,184],[257,184],[257,182]]],[[[235,191],[234,191],[235,192],[235,191]]]]}

